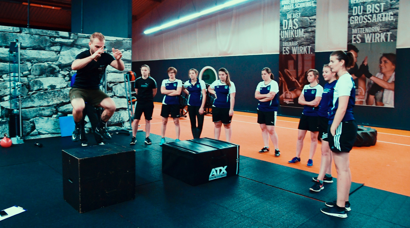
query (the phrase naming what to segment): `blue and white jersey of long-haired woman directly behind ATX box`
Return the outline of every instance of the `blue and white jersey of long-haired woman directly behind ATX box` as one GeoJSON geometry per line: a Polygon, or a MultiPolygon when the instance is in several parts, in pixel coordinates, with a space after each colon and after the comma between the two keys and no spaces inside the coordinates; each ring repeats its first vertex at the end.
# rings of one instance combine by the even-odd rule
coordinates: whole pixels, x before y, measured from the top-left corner
{"type": "Polygon", "coordinates": [[[236,93],[235,84],[231,81],[230,86],[221,83],[221,80],[214,81],[209,87],[216,92],[216,98],[212,106],[219,108],[230,108],[230,94],[236,93]]]}

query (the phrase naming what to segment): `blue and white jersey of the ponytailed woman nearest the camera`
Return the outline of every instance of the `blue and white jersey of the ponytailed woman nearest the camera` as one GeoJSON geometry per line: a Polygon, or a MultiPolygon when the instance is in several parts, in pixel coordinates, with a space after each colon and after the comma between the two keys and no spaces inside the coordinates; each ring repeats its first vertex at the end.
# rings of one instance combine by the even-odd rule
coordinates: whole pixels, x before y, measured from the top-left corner
{"type": "Polygon", "coordinates": [[[355,118],[353,117],[353,107],[355,107],[355,82],[350,74],[346,73],[339,77],[335,85],[335,93],[333,94],[333,107],[332,111],[329,114],[329,124],[333,123],[337,107],[339,106],[339,97],[340,96],[350,96],[347,103],[346,113],[342,119],[343,121],[351,121],[355,118]]]}

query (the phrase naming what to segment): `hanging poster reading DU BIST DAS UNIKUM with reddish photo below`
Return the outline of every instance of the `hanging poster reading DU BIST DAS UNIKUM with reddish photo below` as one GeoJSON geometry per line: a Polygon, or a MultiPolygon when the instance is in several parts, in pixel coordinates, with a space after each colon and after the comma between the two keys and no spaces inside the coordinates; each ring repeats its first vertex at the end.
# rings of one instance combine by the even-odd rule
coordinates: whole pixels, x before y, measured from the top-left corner
{"type": "Polygon", "coordinates": [[[298,98],[314,68],[316,0],[280,1],[279,101],[303,107],[298,98]]]}

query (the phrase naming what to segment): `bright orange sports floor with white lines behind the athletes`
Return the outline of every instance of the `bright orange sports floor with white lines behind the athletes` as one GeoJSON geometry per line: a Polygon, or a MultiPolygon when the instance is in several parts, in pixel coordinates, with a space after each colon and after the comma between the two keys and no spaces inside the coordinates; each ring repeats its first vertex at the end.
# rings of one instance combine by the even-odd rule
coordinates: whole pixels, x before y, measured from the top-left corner
{"type": "MultiPolygon", "coordinates": [[[[151,133],[161,135],[161,103],[155,103],[151,133]]],[[[313,167],[307,167],[310,148],[310,134],[306,134],[302,150],[301,163],[288,164],[287,161],[295,156],[298,118],[278,116],[276,132],[279,136],[280,157],[273,156],[273,152],[258,153],[263,147],[261,130],[256,123],[257,114],[235,112],[232,118],[232,143],[240,145],[240,154],[251,158],[269,161],[292,168],[319,173],[320,142],[314,155],[313,167]]],[[[201,137],[214,137],[214,123],[212,116],[206,115],[201,137]]],[[[141,120],[140,129],[144,129],[141,120]]],[[[180,118],[181,140],[192,139],[189,116],[180,118]]],[[[410,196],[410,131],[373,127],[377,130],[377,143],[371,147],[353,147],[350,152],[350,168],[352,181],[381,190],[410,196]]],[[[175,127],[169,119],[165,133],[166,137],[175,139],[175,127]]],[[[225,140],[225,130],[221,131],[221,140],[225,140]]],[[[153,142],[155,143],[155,142],[153,142]]],[[[272,148],[272,142],[270,142],[272,148]]],[[[333,176],[337,177],[333,164],[333,176]]],[[[309,186],[306,186],[308,188],[309,186]]]]}

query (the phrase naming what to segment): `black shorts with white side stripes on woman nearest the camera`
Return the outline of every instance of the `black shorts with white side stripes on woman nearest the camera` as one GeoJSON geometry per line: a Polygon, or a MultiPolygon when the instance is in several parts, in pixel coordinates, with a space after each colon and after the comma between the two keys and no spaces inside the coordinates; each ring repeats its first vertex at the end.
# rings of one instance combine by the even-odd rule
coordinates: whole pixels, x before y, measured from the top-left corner
{"type": "Polygon", "coordinates": [[[344,121],[336,128],[336,134],[333,136],[330,133],[330,127],[328,126],[328,142],[330,150],[333,152],[350,152],[355,144],[356,135],[358,132],[358,125],[356,121],[344,121]]]}

